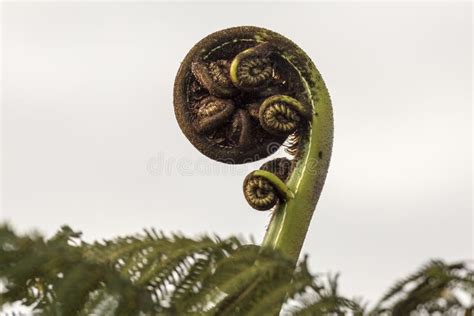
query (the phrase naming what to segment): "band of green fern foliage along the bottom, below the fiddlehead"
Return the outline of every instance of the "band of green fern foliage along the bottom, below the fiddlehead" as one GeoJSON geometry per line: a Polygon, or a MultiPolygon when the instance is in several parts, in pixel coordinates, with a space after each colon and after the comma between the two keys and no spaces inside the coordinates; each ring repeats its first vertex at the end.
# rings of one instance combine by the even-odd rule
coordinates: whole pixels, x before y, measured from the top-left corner
{"type": "Polygon", "coordinates": [[[86,243],[69,227],[45,239],[0,226],[0,306],[38,315],[470,315],[473,280],[465,263],[431,261],[368,310],[339,293],[337,275],[235,237],[150,230],[86,243]]]}

